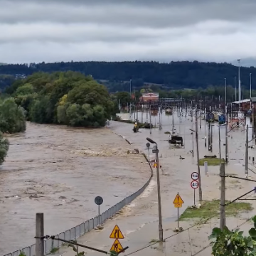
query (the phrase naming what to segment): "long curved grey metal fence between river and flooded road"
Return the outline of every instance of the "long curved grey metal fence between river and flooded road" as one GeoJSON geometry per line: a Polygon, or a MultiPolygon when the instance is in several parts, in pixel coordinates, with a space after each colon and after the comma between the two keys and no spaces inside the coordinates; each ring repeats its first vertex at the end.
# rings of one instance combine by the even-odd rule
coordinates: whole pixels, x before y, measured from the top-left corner
{"type": "MultiPolygon", "coordinates": [[[[148,163],[149,163],[149,160],[146,158],[145,154],[144,154],[144,157],[145,157],[146,161],[148,161],[148,163]]],[[[151,168],[150,163],[149,163],[149,166],[151,168]]],[[[127,198],[124,198],[121,202],[112,206],[111,208],[106,210],[104,213],[102,213],[100,216],[96,216],[95,218],[86,220],[84,223],[81,223],[80,225],[77,225],[74,228],[71,228],[70,230],[65,230],[65,232],[55,235],[55,237],[62,238],[64,240],[75,240],[75,239],[79,238],[80,236],[85,235],[85,233],[88,233],[90,230],[97,228],[98,218],[100,218],[100,223],[104,223],[105,220],[111,218],[114,214],[116,214],[124,206],[127,206],[129,203],[131,203],[149,185],[152,176],[153,176],[153,170],[151,168],[151,176],[150,176],[149,180],[146,181],[144,186],[142,188],[140,188],[137,192],[133,193],[130,196],[127,196],[127,198]]],[[[50,252],[53,252],[53,250],[55,250],[55,248],[60,247],[63,244],[64,244],[64,242],[61,242],[58,240],[52,240],[52,239],[45,240],[44,241],[45,255],[49,254],[50,252]]],[[[23,249],[16,250],[15,252],[10,252],[4,256],[19,256],[19,255],[21,255],[21,253],[22,253],[22,255],[26,255],[26,256],[35,256],[35,254],[36,254],[35,248],[36,248],[36,245],[33,244],[31,246],[24,247],[23,249]]]]}

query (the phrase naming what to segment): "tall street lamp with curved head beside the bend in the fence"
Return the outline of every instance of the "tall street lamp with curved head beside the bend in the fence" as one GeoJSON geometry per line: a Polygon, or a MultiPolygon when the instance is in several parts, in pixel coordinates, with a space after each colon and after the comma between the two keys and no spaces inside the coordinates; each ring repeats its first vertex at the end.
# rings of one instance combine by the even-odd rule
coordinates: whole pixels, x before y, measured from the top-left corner
{"type": "Polygon", "coordinates": [[[161,193],[160,193],[160,176],[159,176],[159,149],[157,143],[154,142],[153,139],[146,138],[146,140],[152,144],[156,144],[156,149],[153,149],[152,152],[156,153],[156,178],[157,178],[157,196],[158,196],[158,204],[159,204],[159,241],[163,242],[163,225],[162,225],[162,217],[161,217],[161,193]]]}

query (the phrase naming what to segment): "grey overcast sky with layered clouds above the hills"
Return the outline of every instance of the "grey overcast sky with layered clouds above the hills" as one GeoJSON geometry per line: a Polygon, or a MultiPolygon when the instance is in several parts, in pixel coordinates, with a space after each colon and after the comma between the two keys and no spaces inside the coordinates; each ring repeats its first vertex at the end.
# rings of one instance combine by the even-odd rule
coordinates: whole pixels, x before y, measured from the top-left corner
{"type": "Polygon", "coordinates": [[[256,56],[255,0],[0,0],[0,63],[256,56]]]}

